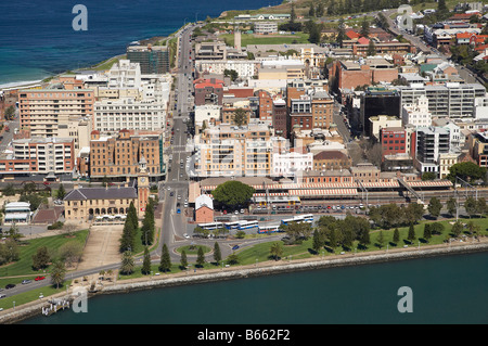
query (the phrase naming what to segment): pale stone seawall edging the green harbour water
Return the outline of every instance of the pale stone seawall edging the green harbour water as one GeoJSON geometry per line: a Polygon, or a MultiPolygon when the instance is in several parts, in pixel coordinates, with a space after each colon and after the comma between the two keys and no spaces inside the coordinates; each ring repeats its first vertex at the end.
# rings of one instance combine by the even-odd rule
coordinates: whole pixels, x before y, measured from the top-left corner
{"type": "MultiPolygon", "coordinates": [[[[198,284],[227,280],[239,280],[253,277],[272,275],[280,273],[290,273],[294,271],[308,271],[317,269],[328,269],[358,265],[372,265],[388,261],[399,261],[408,259],[419,259],[449,255],[463,255],[471,253],[488,252],[488,240],[484,239],[477,243],[451,244],[451,245],[432,245],[429,248],[401,248],[390,251],[377,251],[374,253],[364,254],[347,254],[337,255],[336,258],[313,258],[313,259],[298,259],[293,262],[282,259],[280,261],[270,260],[261,262],[258,266],[248,265],[235,269],[211,269],[205,272],[196,273],[175,273],[168,277],[141,278],[133,279],[129,282],[114,282],[105,285],[99,285],[94,291],[88,294],[88,297],[105,294],[120,294],[136,291],[144,291],[152,289],[162,289],[169,286],[198,284]]],[[[59,298],[65,300],[73,300],[68,293],[60,293],[47,297],[47,299],[59,298]]],[[[47,300],[28,303],[24,306],[18,306],[9,309],[0,316],[0,324],[14,324],[22,322],[25,319],[40,316],[41,308],[48,305],[47,300]]]]}

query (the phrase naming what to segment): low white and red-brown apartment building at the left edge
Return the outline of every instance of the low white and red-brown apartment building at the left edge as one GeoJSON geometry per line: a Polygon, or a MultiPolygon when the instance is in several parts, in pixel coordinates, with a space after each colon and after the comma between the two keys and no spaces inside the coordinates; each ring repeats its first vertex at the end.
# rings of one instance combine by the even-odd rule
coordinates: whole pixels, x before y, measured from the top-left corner
{"type": "Polygon", "coordinates": [[[67,174],[75,169],[72,138],[29,138],[12,141],[12,152],[0,155],[2,174],[67,174]]]}

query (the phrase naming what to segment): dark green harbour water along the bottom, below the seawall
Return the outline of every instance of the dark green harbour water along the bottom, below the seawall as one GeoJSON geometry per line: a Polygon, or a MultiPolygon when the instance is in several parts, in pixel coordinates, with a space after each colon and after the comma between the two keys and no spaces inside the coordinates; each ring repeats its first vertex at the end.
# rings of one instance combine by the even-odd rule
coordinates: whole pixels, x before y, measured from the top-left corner
{"type": "Polygon", "coordinates": [[[451,324],[488,322],[488,253],[440,256],[98,296],[41,324],[451,324]],[[413,312],[399,312],[398,289],[413,312]]]}

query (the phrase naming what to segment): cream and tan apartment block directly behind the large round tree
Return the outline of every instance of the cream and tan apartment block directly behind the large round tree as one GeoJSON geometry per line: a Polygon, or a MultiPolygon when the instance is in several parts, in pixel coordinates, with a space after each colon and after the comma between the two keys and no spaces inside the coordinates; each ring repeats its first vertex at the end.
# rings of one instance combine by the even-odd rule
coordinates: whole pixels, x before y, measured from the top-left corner
{"type": "Polygon", "coordinates": [[[222,124],[205,129],[195,137],[195,176],[269,176],[275,142],[268,126],[222,124]]]}

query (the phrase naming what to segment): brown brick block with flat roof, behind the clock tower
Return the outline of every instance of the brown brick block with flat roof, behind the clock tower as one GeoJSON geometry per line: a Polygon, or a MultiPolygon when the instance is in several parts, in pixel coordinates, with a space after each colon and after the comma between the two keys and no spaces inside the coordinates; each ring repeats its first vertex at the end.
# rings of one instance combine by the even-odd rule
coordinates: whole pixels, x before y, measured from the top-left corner
{"type": "Polygon", "coordinates": [[[100,136],[91,132],[90,141],[90,178],[137,177],[142,157],[152,181],[160,180],[165,175],[163,159],[163,134],[131,133],[124,129],[117,137],[100,136]]]}

